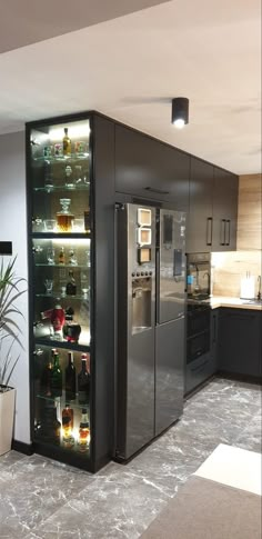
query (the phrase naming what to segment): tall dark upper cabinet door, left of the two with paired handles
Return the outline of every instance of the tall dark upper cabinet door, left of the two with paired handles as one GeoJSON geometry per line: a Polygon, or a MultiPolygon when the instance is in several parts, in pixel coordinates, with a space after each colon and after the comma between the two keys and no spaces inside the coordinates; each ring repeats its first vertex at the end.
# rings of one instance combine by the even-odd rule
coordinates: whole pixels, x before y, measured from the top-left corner
{"type": "Polygon", "coordinates": [[[187,252],[212,250],[213,166],[191,157],[187,252]]]}

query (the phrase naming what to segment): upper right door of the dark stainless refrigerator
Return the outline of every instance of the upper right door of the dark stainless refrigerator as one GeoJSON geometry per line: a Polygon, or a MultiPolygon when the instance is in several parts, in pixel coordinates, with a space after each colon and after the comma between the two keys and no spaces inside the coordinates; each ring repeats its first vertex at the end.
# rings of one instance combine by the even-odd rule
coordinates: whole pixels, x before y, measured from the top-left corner
{"type": "Polygon", "coordinates": [[[161,209],[159,213],[157,323],[184,316],[185,213],[161,209]]]}

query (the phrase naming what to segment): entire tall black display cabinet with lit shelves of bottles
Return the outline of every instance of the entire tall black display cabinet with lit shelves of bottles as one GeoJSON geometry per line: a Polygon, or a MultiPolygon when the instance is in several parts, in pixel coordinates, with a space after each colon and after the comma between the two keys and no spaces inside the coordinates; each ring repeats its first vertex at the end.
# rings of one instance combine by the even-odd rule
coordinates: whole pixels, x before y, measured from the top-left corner
{"type": "Polygon", "coordinates": [[[90,471],[112,451],[110,143],[97,113],[27,124],[32,442],[90,471]]]}

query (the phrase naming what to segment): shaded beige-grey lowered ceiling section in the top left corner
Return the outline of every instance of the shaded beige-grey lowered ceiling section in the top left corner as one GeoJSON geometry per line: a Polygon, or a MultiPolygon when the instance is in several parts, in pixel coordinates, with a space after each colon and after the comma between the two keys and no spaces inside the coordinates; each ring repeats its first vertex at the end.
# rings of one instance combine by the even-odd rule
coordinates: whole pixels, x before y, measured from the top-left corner
{"type": "Polygon", "coordinates": [[[115,19],[168,0],[0,0],[0,52],[115,19]]]}

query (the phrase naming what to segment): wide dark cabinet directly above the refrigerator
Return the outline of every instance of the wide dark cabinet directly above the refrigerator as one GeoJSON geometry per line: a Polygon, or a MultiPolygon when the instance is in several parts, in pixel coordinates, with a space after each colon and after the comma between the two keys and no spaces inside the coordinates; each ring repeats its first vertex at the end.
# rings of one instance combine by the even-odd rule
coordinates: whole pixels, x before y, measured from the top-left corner
{"type": "Polygon", "coordinates": [[[172,201],[189,209],[190,156],[143,133],[115,126],[115,191],[172,201]]]}

